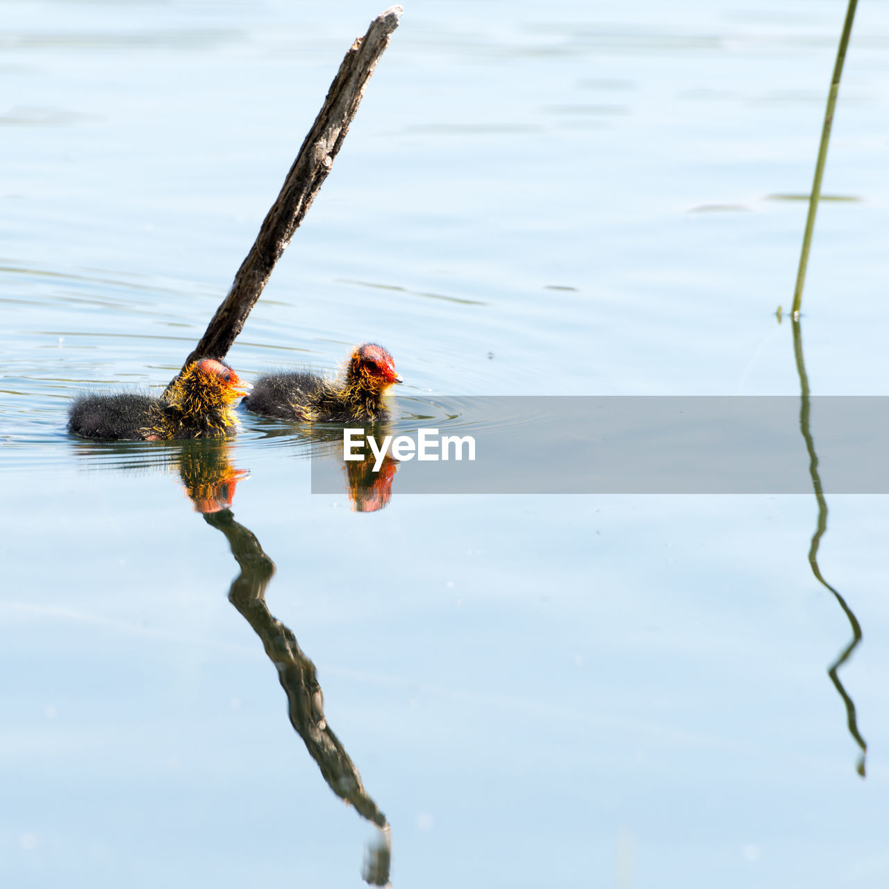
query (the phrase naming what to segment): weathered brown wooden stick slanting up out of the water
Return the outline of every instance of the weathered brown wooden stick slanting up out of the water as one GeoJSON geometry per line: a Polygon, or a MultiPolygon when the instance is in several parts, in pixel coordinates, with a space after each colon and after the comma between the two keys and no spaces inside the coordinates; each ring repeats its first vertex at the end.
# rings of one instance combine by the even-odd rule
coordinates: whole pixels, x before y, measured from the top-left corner
{"type": "Polygon", "coordinates": [[[197,358],[221,361],[244,328],[244,321],[260,298],[275,263],[290,244],[293,232],[331,171],[333,158],[346,138],[367,81],[388,46],[389,37],[398,27],[401,12],[401,6],[390,6],[371,22],[363,37],[356,38],[346,53],[327,92],[324,107],[303,141],[281,193],[262,222],[260,234],[237,270],[228,296],[182,365],[183,370],[197,358]]]}

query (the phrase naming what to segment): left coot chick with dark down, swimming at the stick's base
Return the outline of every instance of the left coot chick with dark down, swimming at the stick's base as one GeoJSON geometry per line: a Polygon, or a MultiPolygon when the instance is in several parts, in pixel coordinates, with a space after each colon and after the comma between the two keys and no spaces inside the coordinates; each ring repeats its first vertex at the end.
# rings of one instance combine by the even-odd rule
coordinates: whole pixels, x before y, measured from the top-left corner
{"type": "Polygon", "coordinates": [[[164,395],[131,392],[83,395],[68,412],[68,431],[110,441],[160,441],[224,436],[249,384],[228,364],[204,358],[189,364],[164,395]]]}

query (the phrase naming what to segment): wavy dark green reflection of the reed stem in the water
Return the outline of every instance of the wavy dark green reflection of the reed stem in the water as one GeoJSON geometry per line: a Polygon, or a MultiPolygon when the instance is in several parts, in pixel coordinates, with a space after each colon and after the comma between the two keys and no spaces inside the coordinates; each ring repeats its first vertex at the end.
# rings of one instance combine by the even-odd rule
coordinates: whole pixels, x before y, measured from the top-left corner
{"type": "Polygon", "coordinates": [[[805,361],[803,360],[803,332],[798,318],[792,319],[791,324],[793,325],[793,350],[794,356],[796,356],[797,359],[797,372],[799,373],[800,385],[799,428],[803,433],[803,438],[805,438],[805,449],[809,453],[809,475],[812,477],[815,501],[818,502],[818,521],[815,525],[815,533],[812,535],[812,543],[809,546],[809,565],[812,568],[812,573],[814,574],[815,579],[821,583],[823,587],[829,589],[837,599],[837,603],[839,603],[840,608],[843,609],[843,613],[848,619],[849,625],[852,627],[852,640],[845,646],[843,651],[839,653],[837,660],[830,664],[828,675],[830,681],[836,687],[839,696],[843,699],[843,703],[845,704],[846,722],[849,726],[849,733],[853,736],[855,743],[858,744],[861,749],[861,756],[859,757],[855,771],[857,771],[863,778],[865,776],[865,759],[868,753],[868,744],[861,737],[861,733],[858,730],[858,717],[855,711],[855,703],[849,693],[846,692],[845,686],[839,677],[840,667],[852,657],[853,651],[861,642],[861,624],[858,622],[858,618],[855,617],[852,609],[846,604],[845,598],[840,595],[839,590],[824,579],[824,575],[821,574],[821,568],[818,565],[818,548],[821,546],[821,538],[828,530],[828,502],[824,497],[824,489],[821,486],[821,474],[818,471],[818,454],[815,452],[815,441],[812,436],[810,422],[812,404],[810,398],[809,377],[805,372],[805,361]]]}

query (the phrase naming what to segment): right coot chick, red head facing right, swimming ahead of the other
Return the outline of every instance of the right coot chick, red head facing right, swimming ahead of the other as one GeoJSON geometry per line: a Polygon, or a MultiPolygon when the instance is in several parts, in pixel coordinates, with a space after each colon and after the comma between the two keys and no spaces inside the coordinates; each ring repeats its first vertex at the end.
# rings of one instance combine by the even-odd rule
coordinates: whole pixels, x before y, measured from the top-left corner
{"type": "Polygon", "coordinates": [[[372,422],[385,417],[386,391],[401,381],[388,351],[365,342],[352,352],[339,378],[329,380],[309,371],[269,373],[256,380],[244,407],[278,420],[372,422]]]}

